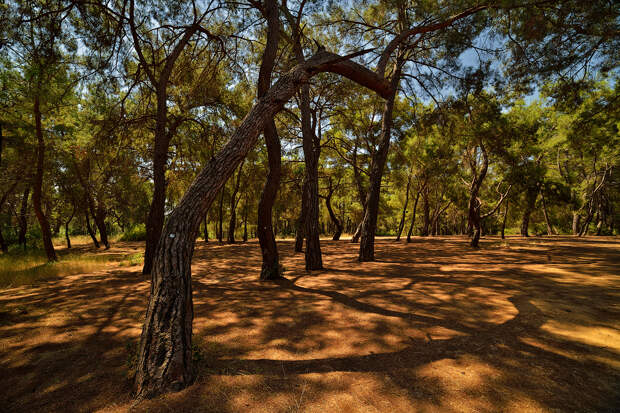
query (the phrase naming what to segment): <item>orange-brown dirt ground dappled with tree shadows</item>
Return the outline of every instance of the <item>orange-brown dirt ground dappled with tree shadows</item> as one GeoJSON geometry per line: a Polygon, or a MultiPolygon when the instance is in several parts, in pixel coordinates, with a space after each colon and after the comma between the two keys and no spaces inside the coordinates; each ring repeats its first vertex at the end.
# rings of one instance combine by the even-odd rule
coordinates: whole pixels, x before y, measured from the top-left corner
{"type": "Polygon", "coordinates": [[[196,383],[138,404],[140,266],[0,290],[0,411],[620,410],[618,238],[380,239],[364,264],[323,241],[312,273],[279,247],[261,283],[256,242],[197,243],[196,383]]]}

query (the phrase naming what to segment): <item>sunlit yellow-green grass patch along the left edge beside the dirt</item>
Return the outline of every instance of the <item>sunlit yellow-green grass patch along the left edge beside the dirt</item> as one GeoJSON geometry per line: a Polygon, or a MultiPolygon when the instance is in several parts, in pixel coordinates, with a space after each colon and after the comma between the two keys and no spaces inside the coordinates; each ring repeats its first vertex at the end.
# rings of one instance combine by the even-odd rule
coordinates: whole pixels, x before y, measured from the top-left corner
{"type": "Polygon", "coordinates": [[[0,256],[0,288],[89,273],[117,260],[118,257],[107,254],[66,254],[50,263],[41,250],[12,251],[0,256]]]}

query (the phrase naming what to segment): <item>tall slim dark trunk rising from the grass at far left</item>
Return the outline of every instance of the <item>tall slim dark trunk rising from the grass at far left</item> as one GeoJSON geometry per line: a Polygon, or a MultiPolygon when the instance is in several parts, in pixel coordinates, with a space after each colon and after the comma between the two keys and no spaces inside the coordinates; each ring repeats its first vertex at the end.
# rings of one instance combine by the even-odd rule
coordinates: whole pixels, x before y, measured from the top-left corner
{"type": "Polygon", "coordinates": [[[52,231],[50,230],[50,224],[47,217],[43,213],[41,207],[42,191],[43,191],[43,168],[45,162],[45,141],[43,139],[43,126],[41,125],[41,110],[40,110],[39,96],[34,97],[34,120],[35,120],[35,134],[37,136],[37,169],[34,175],[33,193],[32,193],[32,205],[34,207],[34,213],[37,216],[39,225],[41,226],[41,235],[43,237],[43,247],[45,248],[45,254],[48,261],[57,261],[56,251],[54,250],[54,244],[52,243],[52,231]]]}

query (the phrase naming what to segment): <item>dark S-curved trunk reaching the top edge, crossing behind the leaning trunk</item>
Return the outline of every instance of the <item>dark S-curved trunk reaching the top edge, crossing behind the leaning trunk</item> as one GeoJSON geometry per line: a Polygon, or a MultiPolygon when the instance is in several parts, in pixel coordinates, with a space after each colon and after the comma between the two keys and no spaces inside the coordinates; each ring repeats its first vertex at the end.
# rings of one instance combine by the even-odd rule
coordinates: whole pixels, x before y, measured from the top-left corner
{"type": "MultiPolygon", "coordinates": [[[[267,43],[263,52],[263,59],[258,73],[257,92],[261,99],[267,94],[271,85],[273,68],[276,63],[278,53],[278,42],[280,40],[280,17],[277,2],[265,0],[263,5],[263,15],[267,20],[267,43]]],[[[276,236],[273,230],[272,209],[275,203],[278,189],[280,187],[280,176],[282,174],[282,154],[280,137],[276,129],[273,117],[267,119],[263,126],[263,136],[267,145],[267,160],[269,163],[269,173],[267,182],[261,193],[258,202],[258,222],[256,232],[260,244],[263,262],[261,265],[260,279],[273,280],[280,278],[280,256],[276,244],[276,236]]]]}

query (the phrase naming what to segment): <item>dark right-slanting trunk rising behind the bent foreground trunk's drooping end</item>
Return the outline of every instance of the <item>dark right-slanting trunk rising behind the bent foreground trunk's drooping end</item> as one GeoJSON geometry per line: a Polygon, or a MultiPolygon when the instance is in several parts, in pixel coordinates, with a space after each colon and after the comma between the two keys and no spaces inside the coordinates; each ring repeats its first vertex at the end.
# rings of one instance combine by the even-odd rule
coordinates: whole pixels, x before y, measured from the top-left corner
{"type": "Polygon", "coordinates": [[[368,196],[366,198],[366,212],[362,221],[362,236],[360,238],[360,262],[375,260],[375,232],[377,231],[377,217],[379,215],[381,179],[383,177],[383,170],[385,169],[385,162],[387,161],[387,154],[390,148],[394,101],[396,99],[396,94],[398,93],[400,73],[403,64],[404,60],[399,56],[394,67],[394,73],[392,73],[392,79],[390,80],[390,96],[387,97],[383,108],[379,148],[372,157],[370,184],[368,188],[368,196]]]}

